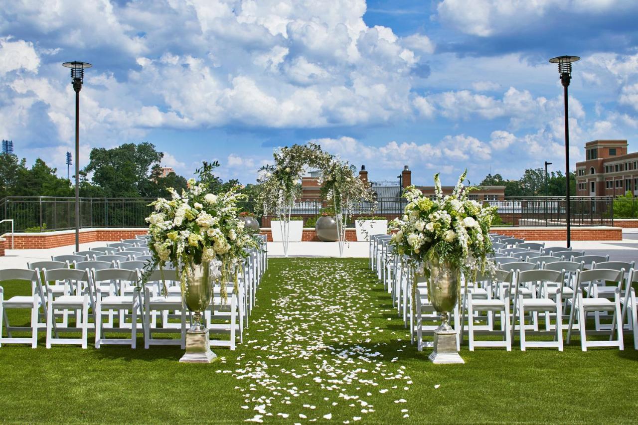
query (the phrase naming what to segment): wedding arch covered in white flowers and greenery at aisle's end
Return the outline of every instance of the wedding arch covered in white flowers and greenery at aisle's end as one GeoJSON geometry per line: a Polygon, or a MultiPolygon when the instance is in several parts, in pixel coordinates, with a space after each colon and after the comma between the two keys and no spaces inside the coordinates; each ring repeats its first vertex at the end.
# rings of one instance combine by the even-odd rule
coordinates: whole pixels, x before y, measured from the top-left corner
{"type": "Polygon", "coordinates": [[[263,215],[279,219],[285,257],[288,257],[292,208],[302,193],[299,181],[306,167],[322,173],[322,195],[334,205],[339,255],[343,256],[348,215],[352,214],[356,202],[373,200],[367,182],[355,175],[355,167],[348,161],[323,151],[313,142],[278,148],[272,156],[274,163],[260,168],[257,181],[261,191],[256,207],[263,215]]]}

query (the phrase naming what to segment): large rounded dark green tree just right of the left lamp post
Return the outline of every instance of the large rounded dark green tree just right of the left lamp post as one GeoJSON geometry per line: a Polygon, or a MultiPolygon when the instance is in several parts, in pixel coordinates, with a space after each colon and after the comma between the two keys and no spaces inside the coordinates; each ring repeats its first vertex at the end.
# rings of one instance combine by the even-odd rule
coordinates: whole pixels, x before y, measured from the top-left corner
{"type": "Polygon", "coordinates": [[[93,148],[84,172],[93,173],[93,183],[106,197],[139,197],[147,190],[151,168],[159,165],[163,156],[149,142],[93,148]]]}

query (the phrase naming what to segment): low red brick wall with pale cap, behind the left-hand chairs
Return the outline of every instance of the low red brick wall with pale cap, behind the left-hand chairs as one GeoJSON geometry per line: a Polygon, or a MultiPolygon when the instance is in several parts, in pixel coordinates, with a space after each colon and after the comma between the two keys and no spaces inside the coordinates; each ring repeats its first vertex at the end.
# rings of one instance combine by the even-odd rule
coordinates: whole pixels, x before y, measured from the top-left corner
{"type": "MultiPolygon", "coordinates": [[[[87,228],[80,230],[80,243],[97,241],[120,241],[121,239],[134,239],[136,235],[143,235],[147,228],[87,228]]],[[[11,234],[3,235],[4,239],[11,241],[11,234]]],[[[43,233],[16,233],[14,234],[16,250],[43,250],[75,244],[75,231],[62,230],[59,232],[43,233]]]]}

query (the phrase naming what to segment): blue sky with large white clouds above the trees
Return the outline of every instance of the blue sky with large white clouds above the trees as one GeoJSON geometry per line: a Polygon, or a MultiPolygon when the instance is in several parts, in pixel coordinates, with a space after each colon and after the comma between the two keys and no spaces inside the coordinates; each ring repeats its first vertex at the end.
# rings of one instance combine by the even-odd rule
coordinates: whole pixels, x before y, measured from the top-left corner
{"type": "MultiPolygon", "coordinates": [[[[583,145],[638,150],[635,0],[15,0],[0,9],[0,138],[66,176],[80,93],[93,147],[151,142],[189,177],[201,161],[254,183],[281,145],[318,142],[373,181],[453,184],[564,170],[583,145]]],[[[75,158],[74,158],[75,160],[75,158]]]]}

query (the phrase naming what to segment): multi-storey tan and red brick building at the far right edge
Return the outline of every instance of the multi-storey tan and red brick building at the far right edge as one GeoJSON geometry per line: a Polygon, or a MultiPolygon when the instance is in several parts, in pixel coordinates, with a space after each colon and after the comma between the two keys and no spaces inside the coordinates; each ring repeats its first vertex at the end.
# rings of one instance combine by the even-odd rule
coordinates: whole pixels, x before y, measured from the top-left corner
{"type": "Polygon", "coordinates": [[[638,152],[627,153],[627,140],[593,140],[586,160],[576,163],[576,195],[638,195],[638,152]]]}

